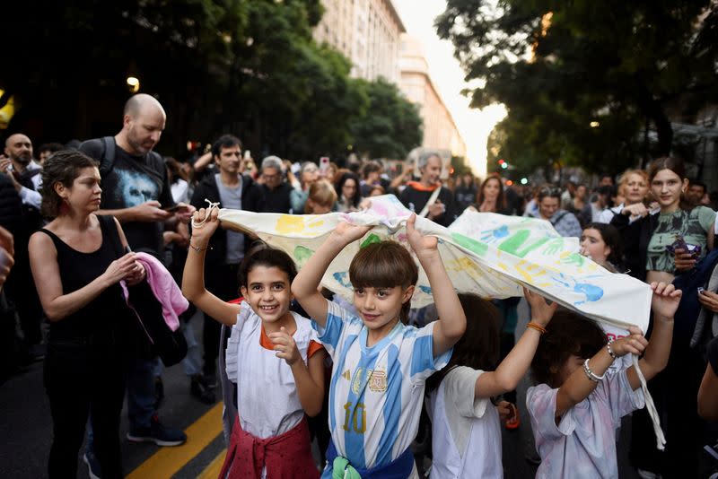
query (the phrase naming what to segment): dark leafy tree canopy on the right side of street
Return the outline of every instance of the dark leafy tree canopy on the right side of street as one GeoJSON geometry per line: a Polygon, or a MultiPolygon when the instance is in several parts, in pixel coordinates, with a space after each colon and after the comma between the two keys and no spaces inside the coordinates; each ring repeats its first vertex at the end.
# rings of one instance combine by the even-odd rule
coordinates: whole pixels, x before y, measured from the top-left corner
{"type": "Polygon", "coordinates": [[[448,0],[436,27],[467,79],[483,83],[470,91],[472,106],[501,102],[509,111],[490,157],[617,169],[639,156],[646,122],[658,133],[654,153],[670,152],[668,109],[714,91],[716,13],[702,16],[710,5],[448,0]]]}

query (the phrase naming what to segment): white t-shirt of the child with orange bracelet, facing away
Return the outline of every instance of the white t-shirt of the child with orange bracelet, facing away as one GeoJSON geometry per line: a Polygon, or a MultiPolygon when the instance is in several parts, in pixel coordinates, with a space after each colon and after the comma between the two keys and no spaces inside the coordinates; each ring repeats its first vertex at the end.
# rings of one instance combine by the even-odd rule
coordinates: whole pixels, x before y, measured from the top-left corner
{"type": "Polygon", "coordinates": [[[490,399],[474,396],[483,373],[466,366],[454,368],[429,396],[431,479],[503,477],[499,414],[490,399]]]}

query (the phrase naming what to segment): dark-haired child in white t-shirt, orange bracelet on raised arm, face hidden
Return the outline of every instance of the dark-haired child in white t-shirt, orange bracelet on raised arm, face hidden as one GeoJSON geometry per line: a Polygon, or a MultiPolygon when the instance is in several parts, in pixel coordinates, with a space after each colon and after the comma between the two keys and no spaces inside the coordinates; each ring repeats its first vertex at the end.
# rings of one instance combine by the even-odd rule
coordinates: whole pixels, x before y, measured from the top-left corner
{"type": "Polygon", "coordinates": [[[432,478],[503,477],[499,413],[492,398],[516,388],[556,310],[556,303],[548,305],[538,294],[524,290],[524,295],[531,322],[498,368],[498,310],[477,295],[459,295],[466,333],[454,345],[449,364],[427,381],[432,478]]]}

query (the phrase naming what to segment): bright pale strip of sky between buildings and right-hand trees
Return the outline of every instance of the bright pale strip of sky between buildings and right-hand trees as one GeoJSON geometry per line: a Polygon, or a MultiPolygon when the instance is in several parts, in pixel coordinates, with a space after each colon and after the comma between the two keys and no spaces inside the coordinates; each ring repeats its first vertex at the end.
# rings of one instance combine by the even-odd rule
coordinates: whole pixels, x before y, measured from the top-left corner
{"type": "Polygon", "coordinates": [[[503,105],[483,110],[469,109],[469,100],[461,95],[467,87],[459,61],[453,57],[453,46],[439,39],[433,20],[444,11],[445,0],[392,0],[407,33],[420,39],[429,64],[429,72],[442,100],[451,111],[461,137],[467,145],[467,156],[478,175],[486,174],[486,139],[496,122],[505,115],[503,105]]]}

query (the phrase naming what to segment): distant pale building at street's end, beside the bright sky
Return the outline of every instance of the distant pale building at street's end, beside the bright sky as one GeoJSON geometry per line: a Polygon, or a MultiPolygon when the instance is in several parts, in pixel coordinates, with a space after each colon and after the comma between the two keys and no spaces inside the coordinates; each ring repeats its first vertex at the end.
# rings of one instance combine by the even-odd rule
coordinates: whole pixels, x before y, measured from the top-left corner
{"type": "Polygon", "coordinates": [[[424,119],[425,148],[449,150],[453,156],[466,157],[466,144],[459,129],[436,90],[429,75],[421,42],[407,34],[401,36],[399,88],[419,106],[424,119]]]}

